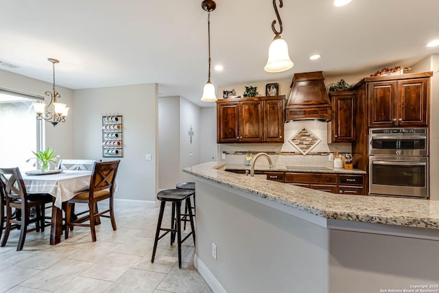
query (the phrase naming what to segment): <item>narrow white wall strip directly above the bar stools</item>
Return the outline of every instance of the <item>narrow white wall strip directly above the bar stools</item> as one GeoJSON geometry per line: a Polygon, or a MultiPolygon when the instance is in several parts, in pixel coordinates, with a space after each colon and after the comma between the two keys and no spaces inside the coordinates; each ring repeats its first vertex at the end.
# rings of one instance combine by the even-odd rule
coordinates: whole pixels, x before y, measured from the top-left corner
{"type": "Polygon", "coordinates": [[[158,98],[158,188],[180,180],[180,97],[158,98]]]}

